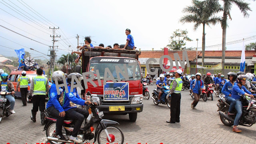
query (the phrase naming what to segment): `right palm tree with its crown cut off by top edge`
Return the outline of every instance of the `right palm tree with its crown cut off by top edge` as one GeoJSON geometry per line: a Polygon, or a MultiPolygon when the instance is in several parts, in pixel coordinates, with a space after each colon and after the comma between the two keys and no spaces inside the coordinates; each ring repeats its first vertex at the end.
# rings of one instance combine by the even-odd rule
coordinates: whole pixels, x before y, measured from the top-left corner
{"type": "MultiPolygon", "coordinates": [[[[226,29],[227,29],[227,19],[228,17],[232,20],[230,16],[230,11],[232,5],[238,6],[240,11],[243,13],[244,18],[248,17],[248,10],[252,11],[249,7],[249,3],[244,2],[244,0],[222,0],[223,1],[223,17],[222,17],[222,72],[224,72],[225,65],[225,48],[226,48],[226,29]]],[[[255,1],[255,0],[253,0],[255,1]]]]}

